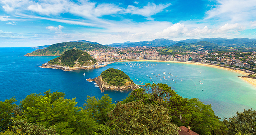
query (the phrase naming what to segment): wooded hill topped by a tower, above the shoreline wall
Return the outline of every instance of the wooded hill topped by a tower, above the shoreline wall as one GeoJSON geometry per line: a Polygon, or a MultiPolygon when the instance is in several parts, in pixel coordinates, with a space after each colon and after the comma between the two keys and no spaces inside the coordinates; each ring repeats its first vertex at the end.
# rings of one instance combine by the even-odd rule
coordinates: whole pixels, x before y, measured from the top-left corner
{"type": "Polygon", "coordinates": [[[68,67],[81,67],[89,66],[96,63],[96,59],[92,58],[90,54],[83,52],[82,50],[68,50],[63,55],[52,59],[48,62],[51,65],[60,65],[68,67]]]}

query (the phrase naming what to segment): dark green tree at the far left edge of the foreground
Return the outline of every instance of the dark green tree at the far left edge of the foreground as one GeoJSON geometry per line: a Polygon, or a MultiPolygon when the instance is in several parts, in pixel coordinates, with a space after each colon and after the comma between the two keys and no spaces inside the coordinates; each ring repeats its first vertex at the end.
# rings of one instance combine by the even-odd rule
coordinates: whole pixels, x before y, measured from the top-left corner
{"type": "Polygon", "coordinates": [[[15,98],[6,99],[4,102],[0,101],[0,131],[8,129],[8,126],[12,124],[10,118],[14,117],[13,109],[17,107],[14,102],[15,98]]]}

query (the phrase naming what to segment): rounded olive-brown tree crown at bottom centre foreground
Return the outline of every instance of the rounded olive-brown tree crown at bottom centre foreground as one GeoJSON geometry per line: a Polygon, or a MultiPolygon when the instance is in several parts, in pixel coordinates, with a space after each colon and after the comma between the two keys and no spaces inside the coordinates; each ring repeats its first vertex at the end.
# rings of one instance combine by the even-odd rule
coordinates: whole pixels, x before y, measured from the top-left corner
{"type": "Polygon", "coordinates": [[[112,135],[178,135],[179,128],[171,123],[168,109],[143,102],[117,103],[109,114],[107,125],[112,135]]]}

